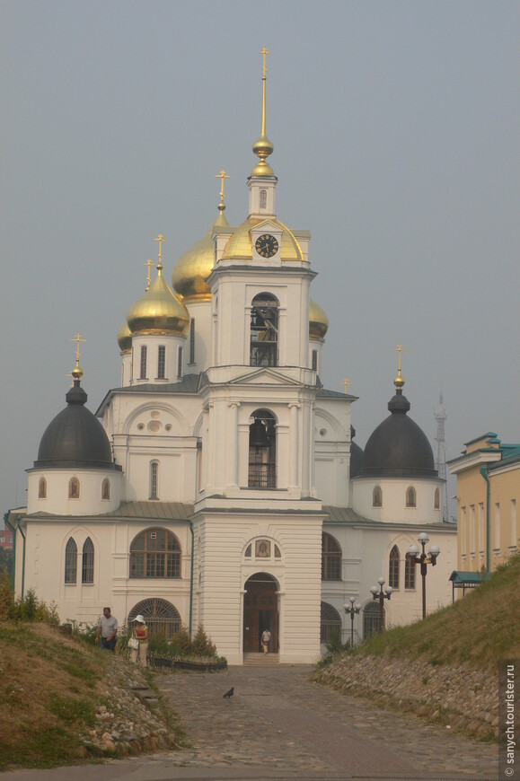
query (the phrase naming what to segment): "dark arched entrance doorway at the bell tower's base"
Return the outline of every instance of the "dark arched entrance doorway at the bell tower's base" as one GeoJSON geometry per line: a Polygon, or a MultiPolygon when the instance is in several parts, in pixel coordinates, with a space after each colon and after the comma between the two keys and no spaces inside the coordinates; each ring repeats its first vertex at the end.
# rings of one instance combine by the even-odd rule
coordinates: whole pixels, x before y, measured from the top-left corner
{"type": "Polygon", "coordinates": [[[267,572],[251,575],[243,595],[243,653],[259,654],[261,636],[269,629],[269,652],[278,654],[278,584],[267,572]]]}

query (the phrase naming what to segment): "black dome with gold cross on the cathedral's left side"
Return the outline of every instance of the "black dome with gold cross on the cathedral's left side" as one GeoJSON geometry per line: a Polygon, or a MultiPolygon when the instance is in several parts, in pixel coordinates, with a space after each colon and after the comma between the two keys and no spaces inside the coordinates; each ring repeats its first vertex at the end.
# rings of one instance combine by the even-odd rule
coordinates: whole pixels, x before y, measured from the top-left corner
{"type": "Polygon", "coordinates": [[[84,407],[86,400],[85,391],[75,380],[66,394],[66,408],[48,424],[41,437],[35,469],[117,469],[112,462],[109,438],[97,417],[84,407]]]}

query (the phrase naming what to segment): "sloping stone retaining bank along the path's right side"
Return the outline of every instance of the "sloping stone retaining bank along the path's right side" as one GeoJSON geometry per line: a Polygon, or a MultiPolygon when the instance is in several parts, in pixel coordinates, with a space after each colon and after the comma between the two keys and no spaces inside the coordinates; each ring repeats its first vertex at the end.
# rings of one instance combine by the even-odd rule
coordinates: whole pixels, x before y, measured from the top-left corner
{"type": "Polygon", "coordinates": [[[345,694],[411,711],[480,740],[498,740],[498,670],[475,670],[464,664],[434,666],[384,656],[341,656],[313,678],[345,694]]]}

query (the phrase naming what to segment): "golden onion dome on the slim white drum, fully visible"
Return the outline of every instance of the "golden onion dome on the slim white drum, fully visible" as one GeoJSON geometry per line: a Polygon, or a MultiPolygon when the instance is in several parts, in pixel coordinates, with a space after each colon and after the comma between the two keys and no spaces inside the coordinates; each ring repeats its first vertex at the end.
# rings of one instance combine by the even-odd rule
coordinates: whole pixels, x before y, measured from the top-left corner
{"type": "Polygon", "coordinates": [[[132,334],[185,334],[189,329],[189,312],[168,287],[162,268],[157,267],[154,283],[128,312],[132,334]]]}

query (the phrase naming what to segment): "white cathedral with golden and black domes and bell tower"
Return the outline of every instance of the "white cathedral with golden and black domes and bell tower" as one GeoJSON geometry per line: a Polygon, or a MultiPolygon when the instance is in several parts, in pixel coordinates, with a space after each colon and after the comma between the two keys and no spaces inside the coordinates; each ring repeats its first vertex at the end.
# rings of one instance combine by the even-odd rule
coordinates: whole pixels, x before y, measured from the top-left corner
{"type": "Polygon", "coordinates": [[[202,624],[231,664],[258,654],[269,628],[279,663],[313,663],[333,632],[347,642],[354,629],[358,642],[382,615],[386,627],[419,619],[406,551],[420,532],[441,548],[427,610],[451,601],[456,531],[401,360],[364,452],[355,397],[322,387],[328,320],[311,298],[310,233],[276,215],[265,56],[252,148],[247,218],[228,224],[223,171],[216,221],[172,288],[156,240],[155,279],[118,335],[121,386],[95,416],[78,350],[66,408],[28,469],[27,506],[9,513],[15,591],[55,602],[62,621],[94,622],[110,605],[120,625],[142,613],[152,633],[202,624]],[[393,589],[383,610],[378,578],[393,589]]]}

